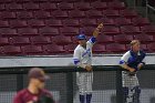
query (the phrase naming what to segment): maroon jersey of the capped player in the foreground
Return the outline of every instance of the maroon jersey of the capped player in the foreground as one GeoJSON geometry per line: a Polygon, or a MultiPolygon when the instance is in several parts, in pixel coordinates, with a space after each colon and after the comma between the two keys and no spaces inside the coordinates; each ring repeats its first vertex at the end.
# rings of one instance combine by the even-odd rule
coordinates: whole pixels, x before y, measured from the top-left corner
{"type": "Polygon", "coordinates": [[[28,89],[24,89],[16,95],[13,103],[38,103],[41,95],[49,95],[51,99],[52,94],[48,90],[41,90],[39,94],[32,94],[28,89]]]}

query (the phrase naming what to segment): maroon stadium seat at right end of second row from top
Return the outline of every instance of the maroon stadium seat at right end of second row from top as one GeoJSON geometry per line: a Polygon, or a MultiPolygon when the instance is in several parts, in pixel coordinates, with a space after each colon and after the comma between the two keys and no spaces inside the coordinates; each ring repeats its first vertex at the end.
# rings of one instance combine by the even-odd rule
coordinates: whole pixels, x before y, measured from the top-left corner
{"type": "Polygon", "coordinates": [[[128,19],[138,17],[137,12],[135,10],[131,10],[131,9],[122,10],[121,16],[123,16],[124,18],[128,18],[128,19]]]}

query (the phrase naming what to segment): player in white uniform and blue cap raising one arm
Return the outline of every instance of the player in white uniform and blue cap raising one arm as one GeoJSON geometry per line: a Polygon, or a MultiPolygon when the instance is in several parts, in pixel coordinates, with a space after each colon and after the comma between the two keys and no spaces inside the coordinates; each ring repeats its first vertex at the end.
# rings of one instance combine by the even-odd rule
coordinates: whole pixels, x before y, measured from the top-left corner
{"type": "Polygon", "coordinates": [[[76,83],[80,90],[80,102],[91,103],[92,99],[92,83],[93,83],[93,72],[92,72],[92,47],[96,41],[100,30],[103,28],[103,23],[94,30],[93,37],[86,41],[85,34],[79,34],[78,41],[79,45],[74,50],[73,61],[78,68],[85,69],[87,72],[76,73],[76,83]]]}

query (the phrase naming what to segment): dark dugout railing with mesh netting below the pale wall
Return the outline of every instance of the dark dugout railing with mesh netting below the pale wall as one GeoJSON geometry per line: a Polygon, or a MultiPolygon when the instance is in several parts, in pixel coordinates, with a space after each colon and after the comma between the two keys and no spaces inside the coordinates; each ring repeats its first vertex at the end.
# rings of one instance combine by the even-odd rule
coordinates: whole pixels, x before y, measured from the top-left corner
{"type": "MultiPolygon", "coordinates": [[[[0,69],[0,103],[11,103],[14,94],[27,87],[27,73],[31,68],[0,69]]],[[[76,69],[75,66],[49,66],[43,69],[52,76],[46,82],[46,87],[53,91],[52,93],[59,103],[79,103],[75,72],[85,72],[83,69],[76,69]]],[[[92,103],[123,103],[122,69],[118,65],[95,65],[93,71],[94,94],[92,103]]],[[[145,65],[138,72],[138,79],[143,90],[142,103],[155,103],[155,65],[145,65]]]]}

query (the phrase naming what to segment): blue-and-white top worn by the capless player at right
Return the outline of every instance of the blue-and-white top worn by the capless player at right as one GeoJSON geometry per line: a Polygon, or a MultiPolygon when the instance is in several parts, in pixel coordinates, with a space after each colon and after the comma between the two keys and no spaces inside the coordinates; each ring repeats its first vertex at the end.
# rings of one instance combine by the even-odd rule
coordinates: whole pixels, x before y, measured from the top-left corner
{"type": "Polygon", "coordinates": [[[137,65],[140,63],[145,63],[145,52],[138,51],[138,53],[133,52],[132,50],[127,51],[120,61],[120,64],[126,63],[130,68],[134,68],[137,71],[137,65]]]}

